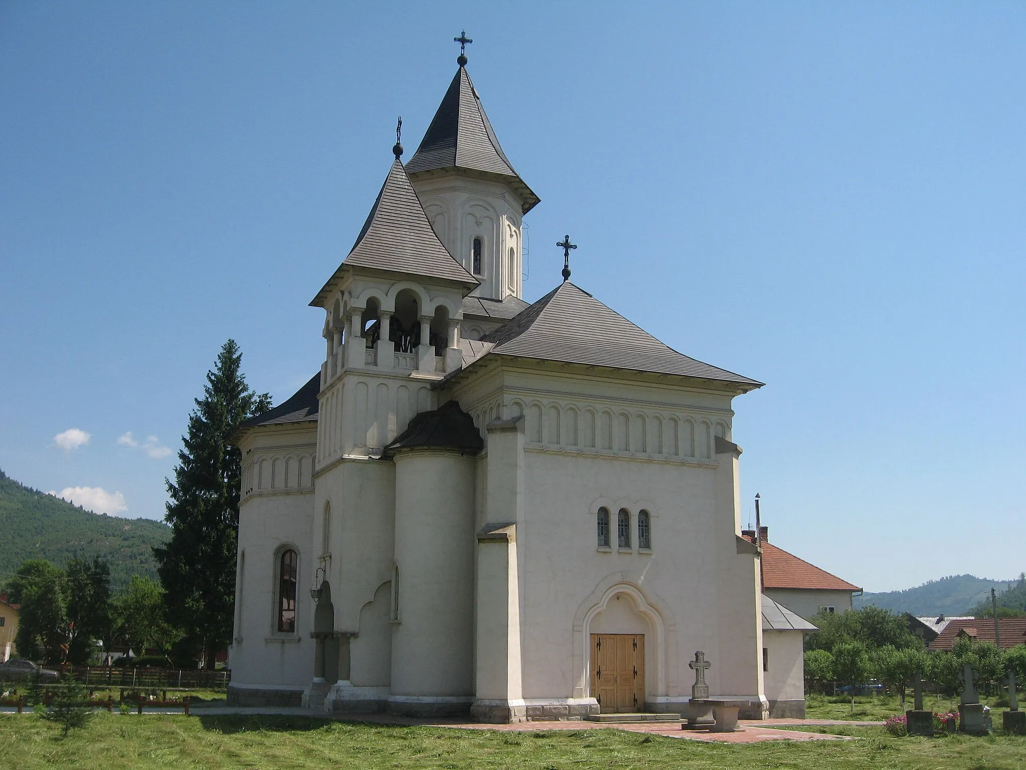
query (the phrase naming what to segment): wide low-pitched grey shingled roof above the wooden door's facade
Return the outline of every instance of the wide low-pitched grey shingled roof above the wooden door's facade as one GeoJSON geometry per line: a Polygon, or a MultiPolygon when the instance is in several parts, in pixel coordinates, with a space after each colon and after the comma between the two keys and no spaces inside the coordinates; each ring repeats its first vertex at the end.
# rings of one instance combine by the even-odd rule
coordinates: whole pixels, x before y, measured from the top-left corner
{"type": "Polygon", "coordinates": [[[736,383],[742,391],[762,385],[678,353],[569,281],[482,341],[491,343],[488,355],[695,377],[736,383]]]}

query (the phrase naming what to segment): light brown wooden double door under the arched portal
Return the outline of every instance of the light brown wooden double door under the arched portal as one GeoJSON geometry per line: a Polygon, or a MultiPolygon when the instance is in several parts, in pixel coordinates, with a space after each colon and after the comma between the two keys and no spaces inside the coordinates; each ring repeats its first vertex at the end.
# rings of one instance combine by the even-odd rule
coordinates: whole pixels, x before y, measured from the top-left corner
{"type": "Polygon", "coordinates": [[[591,634],[591,694],[602,714],[644,707],[644,634],[591,634]]]}

